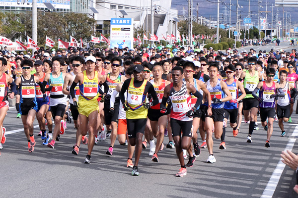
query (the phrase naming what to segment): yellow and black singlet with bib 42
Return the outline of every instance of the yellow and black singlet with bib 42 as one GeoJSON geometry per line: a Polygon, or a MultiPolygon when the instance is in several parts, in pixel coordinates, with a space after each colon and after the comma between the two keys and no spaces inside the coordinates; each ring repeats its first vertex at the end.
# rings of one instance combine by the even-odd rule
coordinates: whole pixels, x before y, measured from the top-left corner
{"type": "Polygon", "coordinates": [[[127,103],[129,110],[126,111],[127,119],[143,119],[147,118],[148,109],[143,106],[143,103],[147,101],[146,95],[144,95],[147,80],[144,79],[143,84],[136,88],[134,86],[134,79],[131,78],[129,87],[127,89],[127,103]]]}

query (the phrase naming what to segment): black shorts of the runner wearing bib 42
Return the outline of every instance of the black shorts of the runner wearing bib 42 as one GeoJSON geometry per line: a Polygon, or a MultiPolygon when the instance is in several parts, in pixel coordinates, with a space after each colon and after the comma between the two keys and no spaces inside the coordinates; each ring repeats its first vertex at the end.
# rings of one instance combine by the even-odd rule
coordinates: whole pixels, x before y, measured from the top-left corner
{"type": "Polygon", "coordinates": [[[126,119],[128,138],[136,138],[137,133],[144,134],[147,118],[126,119]]]}

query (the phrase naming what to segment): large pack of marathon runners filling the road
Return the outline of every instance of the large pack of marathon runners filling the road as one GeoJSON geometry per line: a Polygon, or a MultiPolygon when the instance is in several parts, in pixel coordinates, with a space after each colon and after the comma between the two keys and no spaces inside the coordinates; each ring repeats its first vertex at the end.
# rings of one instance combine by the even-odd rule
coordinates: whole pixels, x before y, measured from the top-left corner
{"type": "Polygon", "coordinates": [[[207,163],[216,162],[213,133],[221,139],[219,148],[226,149],[227,121],[236,137],[242,114],[244,122],[249,122],[246,142],[252,143],[260,114],[267,131],[265,147],[269,148],[274,120],[278,120],[280,136],[284,137],[283,123],[289,121],[298,94],[295,61],[279,66],[275,56],[267,61],[262,54],[253,55],[253,50],[242,53],[243,58],[237,51],[226,56],[212,49],[208,54],[179,50],[175,52],[178,56],[167,49],[159,53],[143,49],[134,55],[123,54],[122,49],[80,55],[70,52],[53,57],[48,52],[34,58],[17,55],[10,73],[7,65],[11,56],[0,58],[0,148],[6,140],[3,120],[7,97],[16,97],[17,118],[24,125],[29,152],[36,145],[35,116],[42,144],[49,148],[55,148],[67,121],[73,119],[76,135],[72,153],[78,155],[80,144],[87,144],[84,163],[91,163],[94,144],[107,137],[110,146],[106,154],[113,155],[118,136],[120,145],[127,145],[127,167],[132,168],[132,175],[140,175],[142,148],[149,144],[153,162],[159,161],[158,152],[164,147],[175,148],[181,166],[176,176],[183,177],[201,148],[209,150],[207,163]],[[164,136],[169,139],[166,146],[164,136]]]}

